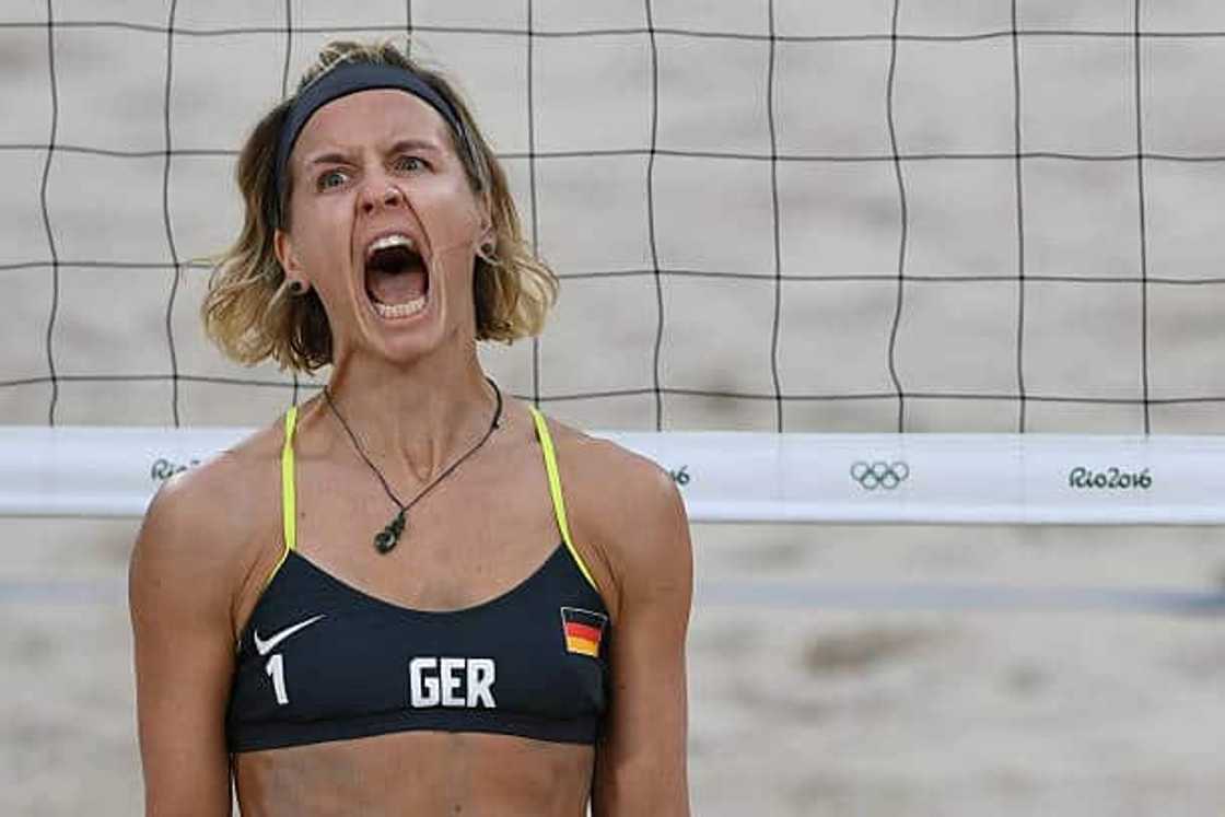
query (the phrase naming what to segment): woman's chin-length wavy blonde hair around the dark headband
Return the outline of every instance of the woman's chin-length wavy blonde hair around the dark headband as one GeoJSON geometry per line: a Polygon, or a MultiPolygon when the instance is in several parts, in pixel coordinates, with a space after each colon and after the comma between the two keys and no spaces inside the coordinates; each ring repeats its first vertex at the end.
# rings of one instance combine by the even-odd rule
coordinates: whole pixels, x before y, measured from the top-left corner
{"type": "Polygon", "coordinates": [[[412,71],[458,113],[469,145],[459,145],[454,132],[452,142],[472,190],[489,203],[494,228],[492,250],[483,249],[475,258],[477,339],[511,343],[538,334],[557,298],[557,278],[523,238],[506,174],[468,105],[446,78],[421,67],[390,42],[345,40],[331,42],[320,50],[295,96],[265,114],[243,146],[236,173],[245,209],[243,229],[233,246],[214,258],[201,306],[205,332],[228,356],[246,365],[272,358],[282,369],[311,372],[332,361],[332,334],[323,303],[314,289],[300,296],[292,294],[273,251],[277,214],[288,213],[292,194],[287,186],[284,200],[277,200],[274,165],[281,129],[296,94],[343,62],[396,65],[412,71]]]}

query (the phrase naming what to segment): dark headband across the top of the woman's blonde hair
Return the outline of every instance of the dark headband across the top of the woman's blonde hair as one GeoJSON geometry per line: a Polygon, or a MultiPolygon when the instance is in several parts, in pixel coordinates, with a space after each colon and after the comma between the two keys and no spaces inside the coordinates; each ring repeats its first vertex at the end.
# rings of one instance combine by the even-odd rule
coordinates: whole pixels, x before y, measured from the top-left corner
{"type": "Polygon", "coordinates": [[[301,135],[307,120],[315,115],[316,110],[330,102],[347,97],[350,93],[376,88],[398,88],[425,102],[434,110],[439,111],[439,115],[451,126],[451,130],[459,140],[461,149],[470,151],[458,111],[421,77],[408,69],[382,62],[345,62],[338,65],[306,86],[298,94],[298,98],[294,99],[293,105],[289,108],[289,113],[285,115],[285,124],[281,127],[281,140],[277,143],[277,164],[273,170],[277,190],[276,207],[278,224],[284,223],[281,207],[285,200],[285,190],[289,186],[289,154],[293,152],[294,143],[298,141],[299,135],[301,135]]]}

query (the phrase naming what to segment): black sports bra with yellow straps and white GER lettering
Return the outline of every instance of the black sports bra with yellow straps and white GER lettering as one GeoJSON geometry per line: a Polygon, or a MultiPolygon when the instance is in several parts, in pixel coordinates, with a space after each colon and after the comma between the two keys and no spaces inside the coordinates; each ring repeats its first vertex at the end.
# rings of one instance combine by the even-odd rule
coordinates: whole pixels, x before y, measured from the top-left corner
{"type": "Polygon", "coordinates": [[[570,538],[549,429],[532,414],[562,541],[511,590],[447,612],[377,599],[296,551],[296,407],[285,414],[285,550],[239,638],[232,752],[410,730],[595,741],[608,609],[570,538]]]}

